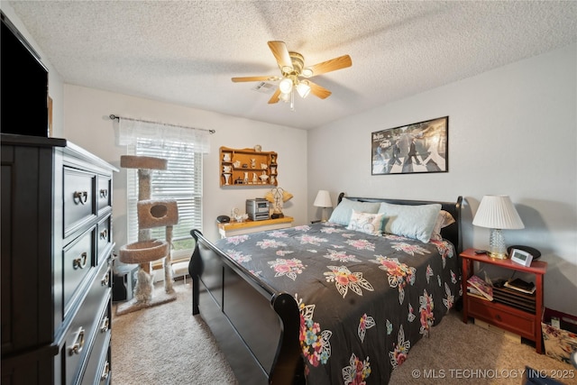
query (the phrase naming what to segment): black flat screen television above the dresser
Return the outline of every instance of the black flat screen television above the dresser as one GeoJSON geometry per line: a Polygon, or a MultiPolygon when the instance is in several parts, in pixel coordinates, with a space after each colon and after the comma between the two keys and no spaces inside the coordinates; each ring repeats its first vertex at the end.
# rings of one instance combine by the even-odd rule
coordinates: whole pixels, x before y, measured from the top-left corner
{"type": "Polygon", "coordinates": [[[48,70],[14,24],[1,16],[0,132],[47,137],[48,70]]]}

